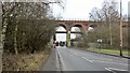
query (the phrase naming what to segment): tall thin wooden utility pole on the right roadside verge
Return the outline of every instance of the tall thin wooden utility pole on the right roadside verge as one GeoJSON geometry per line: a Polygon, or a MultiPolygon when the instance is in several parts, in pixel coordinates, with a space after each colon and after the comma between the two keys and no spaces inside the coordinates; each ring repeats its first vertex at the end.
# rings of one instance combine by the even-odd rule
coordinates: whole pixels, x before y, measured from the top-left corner
{"type": "Polygon", "coordinates": [[[122,16],[121,16],[121,0],[120,0],[120,56],[122,56],[122,16]]]}

